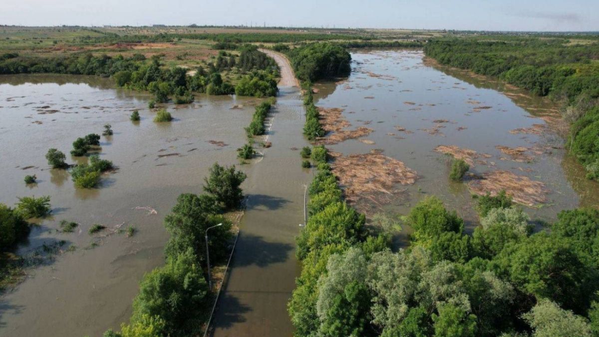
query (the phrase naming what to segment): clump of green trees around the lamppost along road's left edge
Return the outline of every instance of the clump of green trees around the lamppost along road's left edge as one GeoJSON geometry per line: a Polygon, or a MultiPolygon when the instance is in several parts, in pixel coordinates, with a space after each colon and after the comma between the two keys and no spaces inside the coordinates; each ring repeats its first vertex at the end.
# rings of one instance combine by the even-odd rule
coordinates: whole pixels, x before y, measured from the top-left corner
{"type": "Polygon", "coordinates": [[[184,193],[164,219],[170,234],[166,264],[146,273],[133,301],[129,323],[104,337],[198,336],[210,315],[214,289],[207,279],[204,234],[209,227],[210,260],[225,261],[230,254],[231,221],[223,212],[241,207],[241,183],[246,174],[235,166],[215,163],[204,179],[204,194],[184,193]]]}

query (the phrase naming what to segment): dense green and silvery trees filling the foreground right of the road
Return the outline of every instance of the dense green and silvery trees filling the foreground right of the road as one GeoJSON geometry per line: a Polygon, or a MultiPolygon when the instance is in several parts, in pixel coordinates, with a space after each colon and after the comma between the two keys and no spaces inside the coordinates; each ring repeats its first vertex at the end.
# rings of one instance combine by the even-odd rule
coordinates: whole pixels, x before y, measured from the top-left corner
{"type": "Polygon", "coordinates": [[[384,227],[343,200],[326,149],[311,158],[302,272],[288,303],[296,336],[599,333],[598,210],[564,210],[533,234],[510,197],[486,195],[468,235],[455,211],[428,197],[403,219],[411,245],[394,252],[384,227]]]}

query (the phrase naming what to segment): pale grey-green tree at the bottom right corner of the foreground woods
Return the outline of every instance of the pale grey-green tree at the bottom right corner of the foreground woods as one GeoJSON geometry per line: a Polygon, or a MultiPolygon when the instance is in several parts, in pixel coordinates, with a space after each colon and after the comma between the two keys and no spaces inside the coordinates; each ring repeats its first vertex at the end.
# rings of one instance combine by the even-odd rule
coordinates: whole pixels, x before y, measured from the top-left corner
{"type": "Polygon", "coordinates": [[[522,315],[533,328],[534,337],[580,336],[591,337],[591,327],[584,317],[559,308],[550,300],[540,300],[527,314],[522,315]]]}

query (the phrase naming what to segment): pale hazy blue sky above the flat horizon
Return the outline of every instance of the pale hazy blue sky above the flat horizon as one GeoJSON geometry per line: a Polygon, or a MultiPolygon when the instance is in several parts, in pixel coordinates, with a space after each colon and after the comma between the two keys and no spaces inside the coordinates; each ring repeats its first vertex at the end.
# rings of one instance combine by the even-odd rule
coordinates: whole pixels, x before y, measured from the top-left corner
{"type": "Polygon", "coordinates": [[[0,0],[0,25],[599,31],[599,0],[0,0]]]}

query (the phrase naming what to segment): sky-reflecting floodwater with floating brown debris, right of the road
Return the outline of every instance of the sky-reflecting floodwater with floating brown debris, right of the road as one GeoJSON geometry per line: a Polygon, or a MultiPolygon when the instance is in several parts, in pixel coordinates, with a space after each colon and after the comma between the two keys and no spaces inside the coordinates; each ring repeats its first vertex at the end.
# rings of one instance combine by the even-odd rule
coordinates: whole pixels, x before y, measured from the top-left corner
{"type": "Polygon", "coordinates": [[[343,109],[351,124],[346,130],[373,131],[328,148],[342,155],[382,152],[418,174],[415,183],[396,186],[391,198],[381,194],[390,203],[358,202],[369,213],[406,214],[434,194],[464,216],[471,229],[476,215],[467,183],[502,170],[542,183],[544,202],[523,206],[533,218],[551,221],[562,209],[599,205],[598,184],[586,180],[582,168],[565,156],[559,136],[564,125],[549,101],[464,71],[425,65],[417,51],[356,52],[352,59],[349,79],[315,87],[316,105],[343,109]],[[467,183],[449,180],[449,157],[434,151],[439,145],[477,152],[467,183]],[[523,152],[501,151],[518,148],[523,152]]]}

